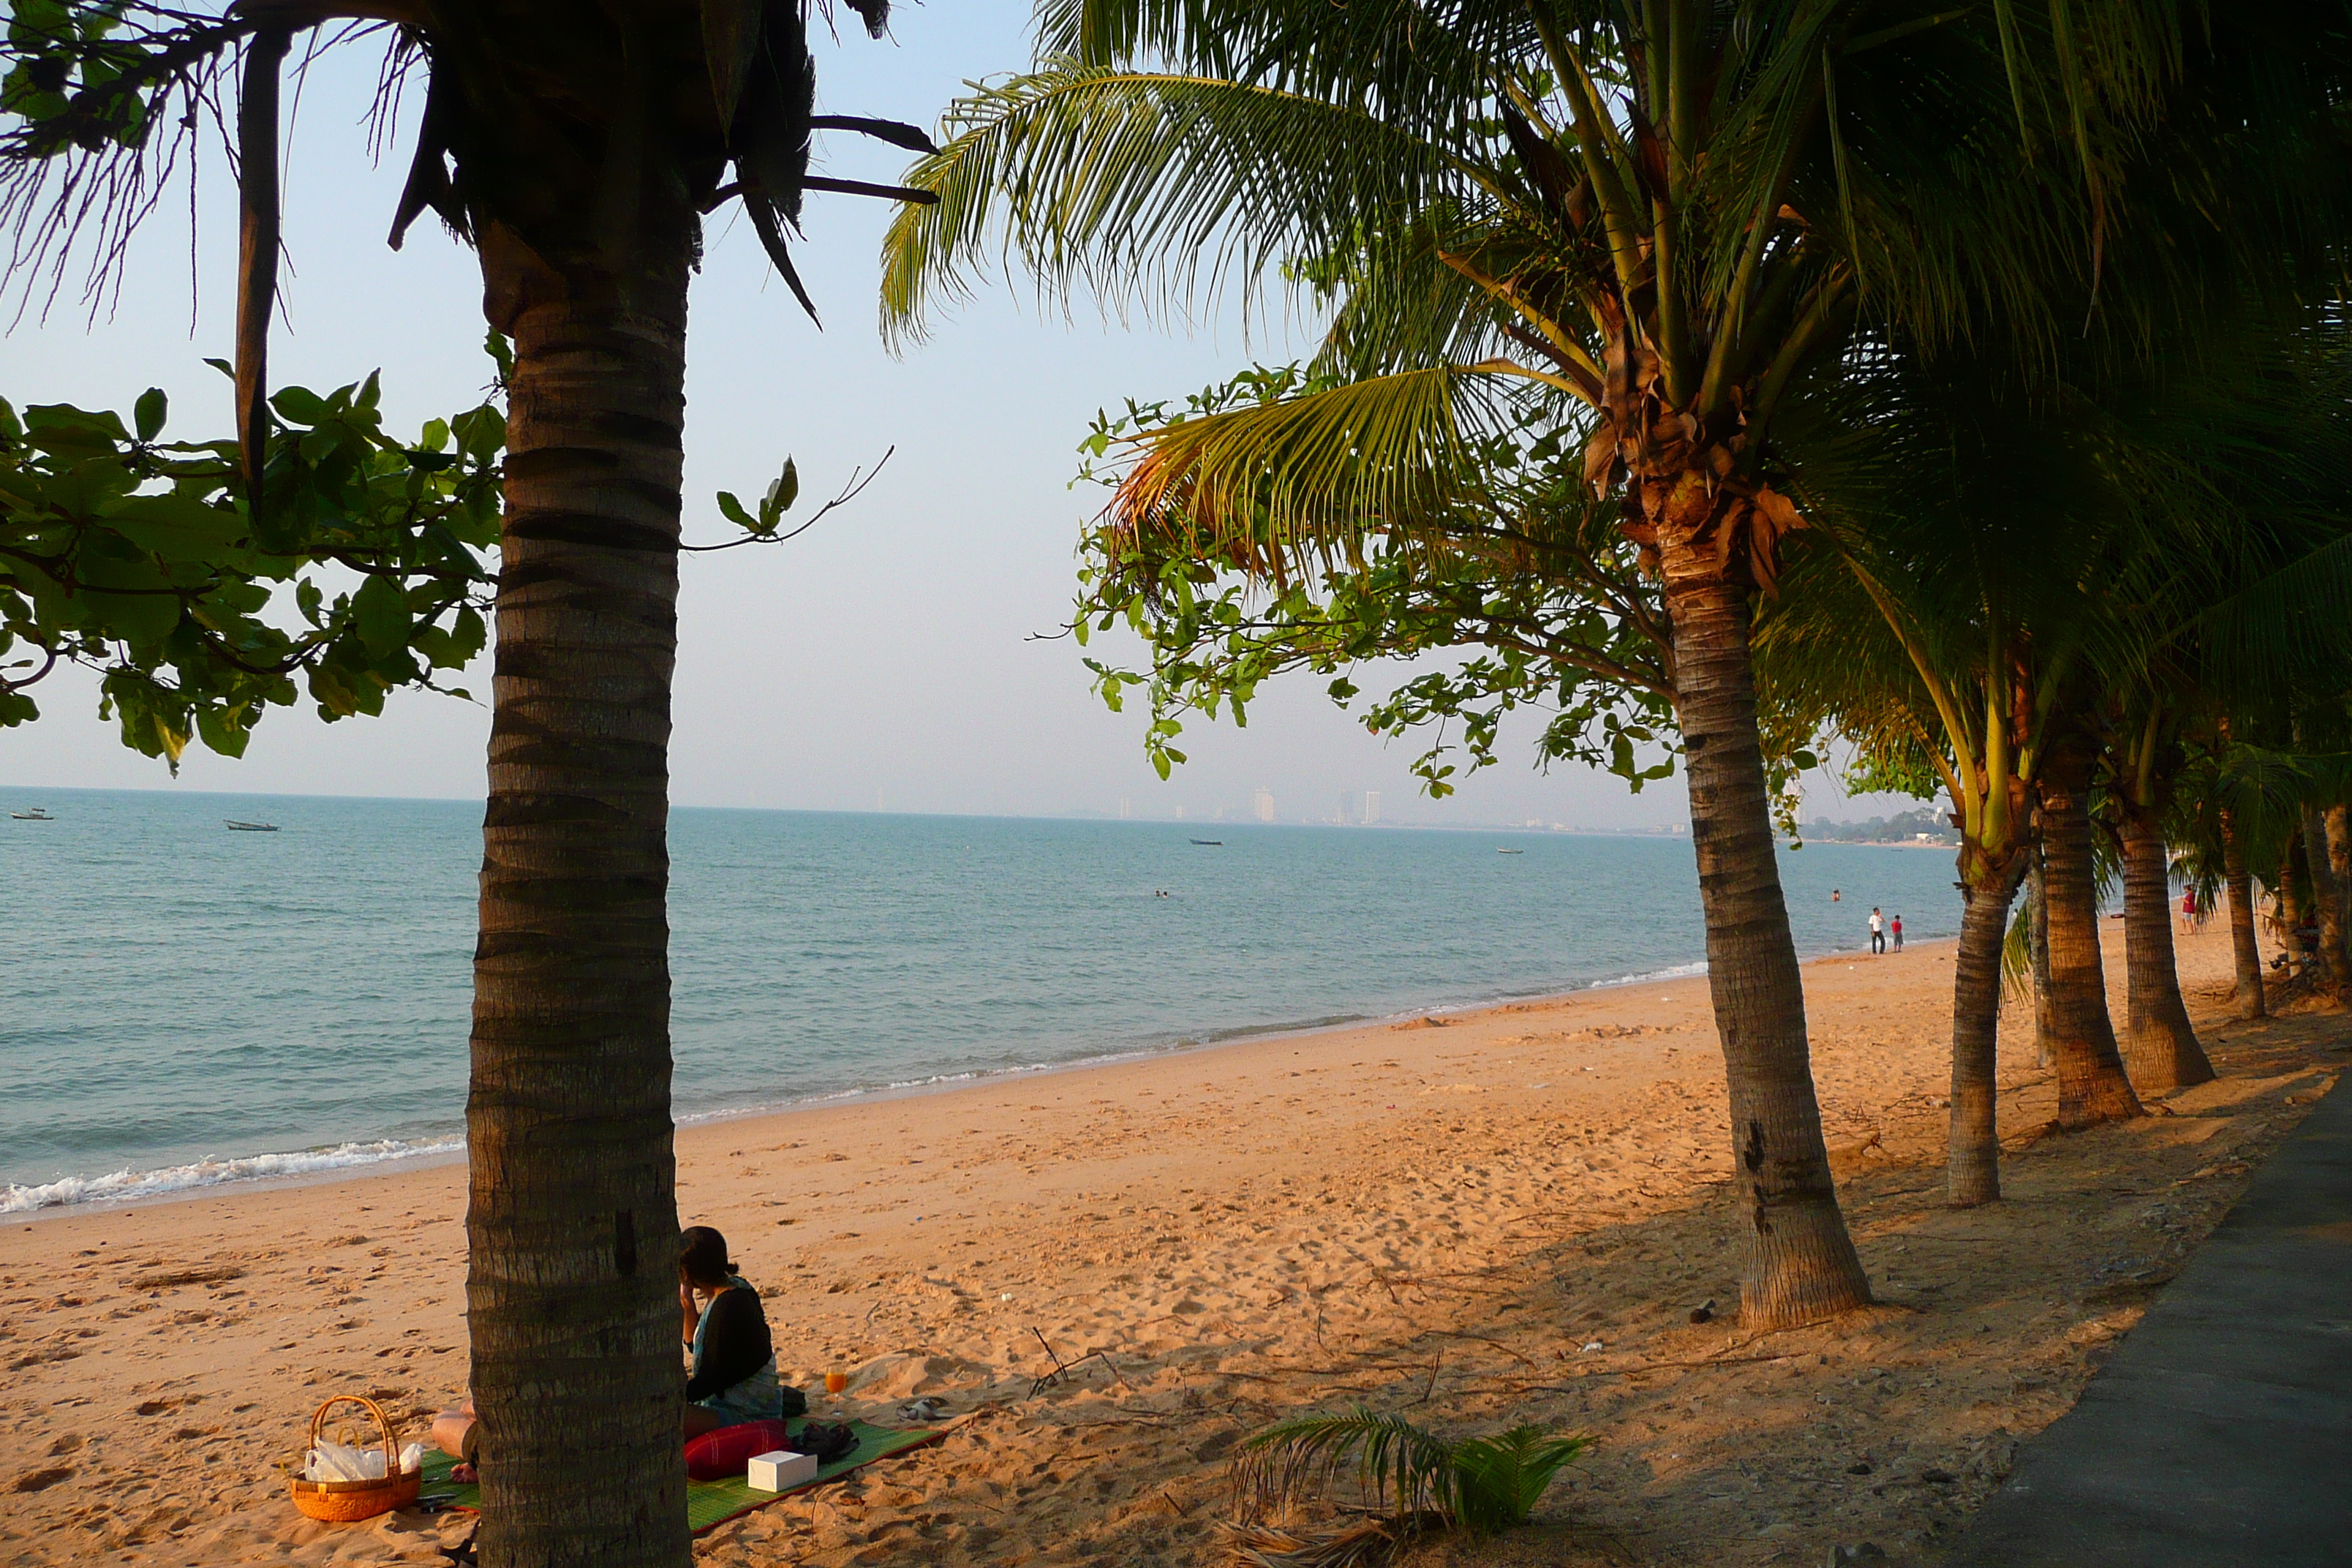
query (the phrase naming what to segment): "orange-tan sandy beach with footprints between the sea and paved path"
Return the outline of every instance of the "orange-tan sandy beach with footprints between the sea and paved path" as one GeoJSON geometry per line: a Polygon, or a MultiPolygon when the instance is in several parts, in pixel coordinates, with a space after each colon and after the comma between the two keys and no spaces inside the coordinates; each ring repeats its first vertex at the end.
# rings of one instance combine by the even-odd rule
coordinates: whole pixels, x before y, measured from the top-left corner
{"type": "MultiPolygon", "coordinates": [[[[2345,1060],[2333,1016],[2223,1023],[2227,931],[2180,947],[2220,1081],[2037,1135],[2011,1009],[2009,1199],[1969,1213],[1938,1201],[1950,945],[1809,964],[1882,1305],[1762,1338],[1689,1321],[1738,1298],[1703,980],[687,1128],[682,1218],[734,1241],[786,1368],[957,1418],[699,1556],[1223,1561],[1235,1441],[1369,1401],[1595,1439],[1536,1528],[1414,1561],[1933,1561],[2345,1060]],[[1073,1371],[1033,1394],[1040,1335],[1073,1371]]],[[[437,1166],[0,1232],[0,1561],[445,1561],[459,1519],[310,1523],[273,1465],[329,1392],[412,1427],[459,1392],[461,1213],[437,1166]]]]}

